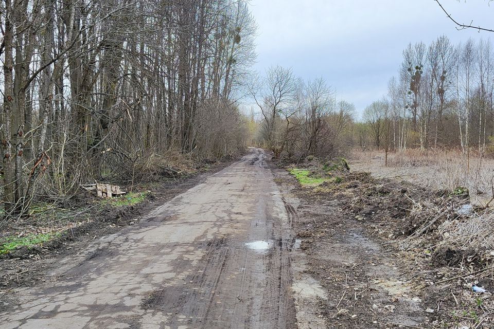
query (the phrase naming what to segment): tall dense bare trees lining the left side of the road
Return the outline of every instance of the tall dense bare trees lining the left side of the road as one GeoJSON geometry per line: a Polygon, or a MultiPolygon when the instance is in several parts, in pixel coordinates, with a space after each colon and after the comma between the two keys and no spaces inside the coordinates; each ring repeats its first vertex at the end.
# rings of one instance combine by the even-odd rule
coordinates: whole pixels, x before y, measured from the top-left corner
{"type": "Polygon", "coordinates": [[[245,2],[6,0],[0,16],[6,215],[81,182],[133,180],[170,152],[244,147],[245,2]]]}

